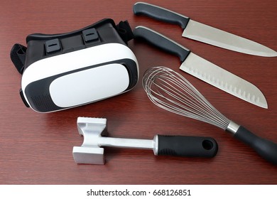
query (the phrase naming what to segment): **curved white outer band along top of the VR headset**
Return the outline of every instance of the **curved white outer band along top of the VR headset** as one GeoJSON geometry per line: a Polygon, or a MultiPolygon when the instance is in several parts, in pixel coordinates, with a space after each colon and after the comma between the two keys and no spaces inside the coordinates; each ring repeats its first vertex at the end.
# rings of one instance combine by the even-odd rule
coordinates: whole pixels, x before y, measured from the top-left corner
{"type": "Polygon", "coordinates": [[[121,59],[134,60],[138,65],[134,53],[126,45],[120,43],[107,43],[45,58],[29,65],[23,72],[21,87],[24,90],[28,84],[37,80],[121,59]]]}

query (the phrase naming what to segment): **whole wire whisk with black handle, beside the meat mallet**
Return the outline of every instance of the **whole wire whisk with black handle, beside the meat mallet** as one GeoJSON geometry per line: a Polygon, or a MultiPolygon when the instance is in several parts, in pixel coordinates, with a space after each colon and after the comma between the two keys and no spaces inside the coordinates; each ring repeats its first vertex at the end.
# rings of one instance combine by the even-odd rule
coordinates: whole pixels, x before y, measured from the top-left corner
{"type": "Polygon", "coordinates": [[[149,68],[142,82],[149,99],[158,107],[224,129],[267,161],[277,164],[277,144],[256,136],[225,117],[178,72],[162,66],[149,68]]]}

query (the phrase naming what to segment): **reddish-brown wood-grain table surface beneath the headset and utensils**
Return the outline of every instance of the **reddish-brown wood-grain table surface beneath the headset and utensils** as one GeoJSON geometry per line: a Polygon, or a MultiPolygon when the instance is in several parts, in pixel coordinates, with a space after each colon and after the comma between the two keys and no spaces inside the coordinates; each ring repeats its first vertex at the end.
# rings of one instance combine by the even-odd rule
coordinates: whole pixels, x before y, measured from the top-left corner
{"type": "MultiPolygon", "coordinates": [[[[21,75],[9,58],[14,43],[26,45],[31,33],[66,33],[112,18],[131,27],[148,26],[185,45],[195,54],[254,83],[268,109],[256,107],[181,72],[222,114],[259,136],[277,142],[277,64],[264,58],[182,38],[179,26],[134,16],[136,1],[3,1],[0,6],[0,184],[277,184],[277,169],[210,124],[156,107],[141,86],[143,72],[163,65],[181,72],[180,60],[141,41],[129,48],[139,61],[140,78],[130,92],[109,99],[40,114],[25,107],[18,95],[21,75]],[[104,117],[109,135],[152,139],[155,134],[211,136],[219,151],[214,158],[153,156],[152,151],[105,149],[103,166],[77,165],[72,147],[83,138],[77,117],[104,117]]],[[[277,50],[276,0],[148,1],[195,21],[235,33],[277,50]],[[174,2],[174,3],[173,3],[174,2]]]]}

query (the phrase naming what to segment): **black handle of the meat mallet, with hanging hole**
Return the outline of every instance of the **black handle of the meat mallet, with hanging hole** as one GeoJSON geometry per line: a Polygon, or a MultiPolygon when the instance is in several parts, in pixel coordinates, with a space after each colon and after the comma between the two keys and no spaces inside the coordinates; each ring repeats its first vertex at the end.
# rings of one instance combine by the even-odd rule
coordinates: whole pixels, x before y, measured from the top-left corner
{"type": "Polygon", "coordinates": [[[158,156],[212,158],[217,149],[217,141],[210,137],[158,135],[158,156]]]}

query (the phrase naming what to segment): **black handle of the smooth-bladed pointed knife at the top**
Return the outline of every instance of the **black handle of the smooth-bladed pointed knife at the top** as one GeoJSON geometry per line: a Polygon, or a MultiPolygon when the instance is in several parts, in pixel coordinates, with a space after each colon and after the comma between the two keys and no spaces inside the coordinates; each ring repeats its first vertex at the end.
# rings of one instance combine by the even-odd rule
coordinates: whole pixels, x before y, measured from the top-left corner
{"type": "Polygon", "coordinates": [[[183,16],[181,14],[175,13],[174,11],[143,2],[134,4],[133,11],[136,15],[145,15],[158,21],[180,25],[183,29],[185,29],[188,21],[190,21],[190,18],[187,16],[183,16]]]}

